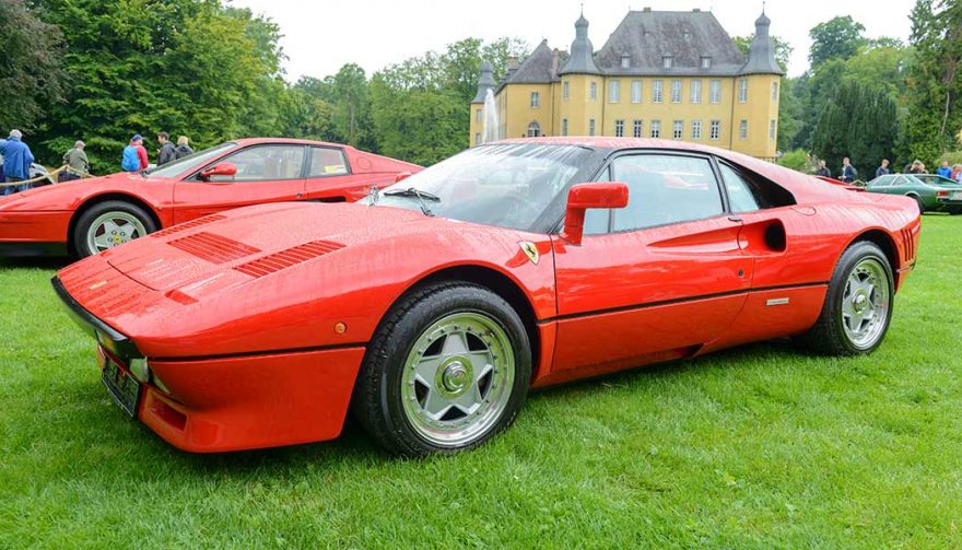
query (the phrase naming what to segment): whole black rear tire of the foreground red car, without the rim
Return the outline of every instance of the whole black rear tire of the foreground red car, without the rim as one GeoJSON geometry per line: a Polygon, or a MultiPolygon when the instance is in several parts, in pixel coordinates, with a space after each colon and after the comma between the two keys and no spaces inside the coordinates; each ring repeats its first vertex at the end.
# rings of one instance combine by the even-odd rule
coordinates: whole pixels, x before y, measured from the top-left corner
{"type": "Polygon", "coordinates": [[[803,347],[811,351],[825,355],[861,355],[871,353],[881,344],[889,330],[892,320],[895,288],[892,277],[892,267],[889,265],[884,253],[875,243],[860,241],[849,246],[838,259],[832,280],[829,282],[829,291],[822,305],[822,313],[818,321],[808,332],[796,338],[803,347]],[[849,276],[853,270],[865,260],[875,260],[884,273],[887,307],[884,324],[880,333],[872,341],[858,344],[848,336],[844,327],[843,300],[849,276]]]}

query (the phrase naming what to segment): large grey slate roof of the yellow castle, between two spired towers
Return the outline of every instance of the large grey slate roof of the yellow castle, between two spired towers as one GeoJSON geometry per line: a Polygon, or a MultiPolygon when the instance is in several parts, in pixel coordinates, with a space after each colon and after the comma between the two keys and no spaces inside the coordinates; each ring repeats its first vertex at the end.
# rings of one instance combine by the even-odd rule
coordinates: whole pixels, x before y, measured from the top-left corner
{"type": "Polygon", "coordinates": [[[736,74],[744,56],[711,12],[630,11],[611,33],[595,60],[606,74],[684,75],[736,74]],[[621,67],[622,55],[630,68],[621,67]],[[662,67],[662,57],[672,68],[662,67]],[[701,58],[712,66],[702,69],[701,58]]]}

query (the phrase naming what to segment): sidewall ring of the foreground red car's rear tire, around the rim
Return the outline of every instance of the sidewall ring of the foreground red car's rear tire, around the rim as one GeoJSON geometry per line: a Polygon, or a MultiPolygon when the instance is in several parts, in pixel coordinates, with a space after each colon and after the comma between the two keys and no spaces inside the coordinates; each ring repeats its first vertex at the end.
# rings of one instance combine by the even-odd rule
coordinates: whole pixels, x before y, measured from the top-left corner
{"type": "Polygon", "coordinates": [[[831,307],[832,329],[835,331],[838,341],[845,347],[848,353],[871,353],[882,343],[892,323],[892,312],[895,305],[895,280],[889,259],[878,245],[869,242],[860,242],[852,245],[845,250],[835,267],[835,272],[832,274],[828,300],[829,306],[831,307]],[[885,326],[879,335],[879,338],[868,348],[859,348],[848,339],[848,335],[845,332],[844,320],[842,318],[842,296],[845,292],[845,285],[852,270],[855,269],[855,266],[858,265],[858,262],[868,258],[876,259],[885,272],[889,307],[885,311],[885,326]]]}

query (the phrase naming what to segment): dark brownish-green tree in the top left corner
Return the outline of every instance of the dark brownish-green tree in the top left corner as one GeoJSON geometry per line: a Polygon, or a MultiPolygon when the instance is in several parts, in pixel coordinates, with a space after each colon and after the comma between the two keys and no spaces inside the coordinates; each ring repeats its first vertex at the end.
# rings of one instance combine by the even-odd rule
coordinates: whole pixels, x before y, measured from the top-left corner
{"type": "MultiPolygon", "coordinates": [[[[40,21],[24,0],[0,2],[0,129],[33,130],[46,106],[61,103],[67,73],[61,67],[60,28],[40,21]]],[[[5,133],[3,134],[5,136],[5,133]]]]}

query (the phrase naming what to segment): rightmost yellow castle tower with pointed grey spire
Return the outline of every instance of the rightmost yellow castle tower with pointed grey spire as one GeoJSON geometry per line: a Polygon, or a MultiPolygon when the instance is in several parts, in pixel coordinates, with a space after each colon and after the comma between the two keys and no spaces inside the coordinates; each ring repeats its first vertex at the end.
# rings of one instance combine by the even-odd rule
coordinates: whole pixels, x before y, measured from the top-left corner
{"type": "Polygon", "coordinates": [[[775,61],[775,43],[769,35],[771,24],[763,9],[755,20],[748,59],[736,78],[729,144],[729,149],[762,159],[774,159],[777,151],[778,100],[784,74],[775,61]]]}

